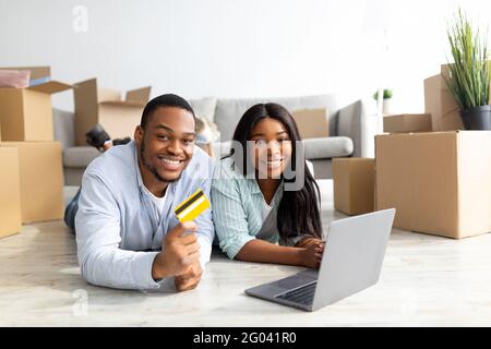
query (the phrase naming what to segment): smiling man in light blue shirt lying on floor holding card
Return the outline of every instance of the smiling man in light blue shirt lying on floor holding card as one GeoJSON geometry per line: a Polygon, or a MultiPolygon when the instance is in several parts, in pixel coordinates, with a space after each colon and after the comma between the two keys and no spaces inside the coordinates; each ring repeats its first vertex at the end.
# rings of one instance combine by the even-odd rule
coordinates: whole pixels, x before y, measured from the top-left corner
{"type": "Polygon", "coordinates": [[[151,100],[134,141],[87,167],[75,216],[82,276],[91,284],[177,290],[197,286],[209,261],[211,209],[180,224],[173,208],[197,189],[209,197],[212,159],[194,147],[191,106],[176,95],[151,100]]]}

